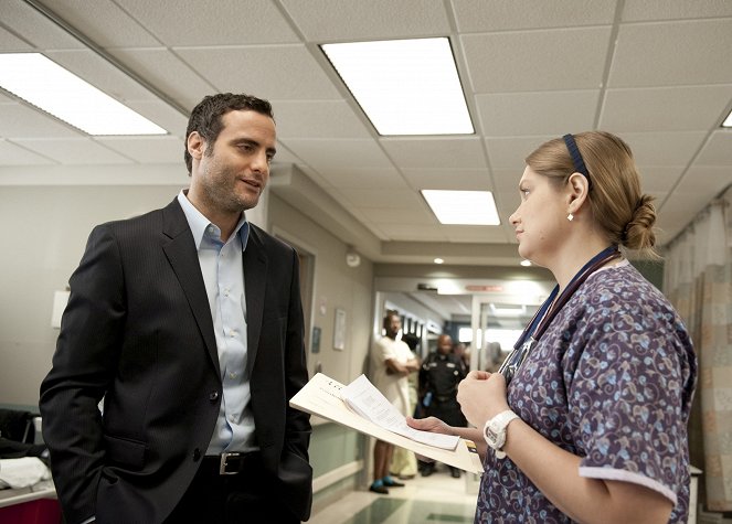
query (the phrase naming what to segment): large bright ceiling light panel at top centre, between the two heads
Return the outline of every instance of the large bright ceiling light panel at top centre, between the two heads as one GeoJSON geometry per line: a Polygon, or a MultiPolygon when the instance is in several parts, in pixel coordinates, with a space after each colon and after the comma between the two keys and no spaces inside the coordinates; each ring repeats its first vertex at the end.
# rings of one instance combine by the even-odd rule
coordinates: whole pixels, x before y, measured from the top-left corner
{"type": "Polygon", "coordinates": [[[379,135],[470,135],[449,40],[323,44],[379,135]]]}

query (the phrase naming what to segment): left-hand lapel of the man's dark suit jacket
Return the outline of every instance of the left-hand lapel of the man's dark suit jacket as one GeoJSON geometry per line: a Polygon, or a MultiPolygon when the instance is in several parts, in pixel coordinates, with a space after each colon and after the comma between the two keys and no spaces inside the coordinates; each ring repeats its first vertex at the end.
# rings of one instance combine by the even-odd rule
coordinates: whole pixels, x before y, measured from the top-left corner
{"type": "Polygon", "coordinates": [[[195,322],[205,342],[209,356],[216,373],[221,376],[219,367],[219,352],[216,350],[216,338],[213,332],[213,320],[209,297],[205,292],[201,265],[199,264],[193,235],[185,220],[185,214],[174,199],[162,210],[162,233],[170,238],[163,243],[162,249],[178,277],[181,288],[188,299],[195,322]]]}

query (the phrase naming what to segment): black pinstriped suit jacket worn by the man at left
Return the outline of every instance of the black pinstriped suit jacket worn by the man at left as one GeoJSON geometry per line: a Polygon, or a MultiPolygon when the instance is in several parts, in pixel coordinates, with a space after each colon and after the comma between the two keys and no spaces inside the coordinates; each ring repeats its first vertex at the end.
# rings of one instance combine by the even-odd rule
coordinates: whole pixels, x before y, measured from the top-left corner
{"type": "MultiPolygon", "coordinates": [[[[283,503],[307,520],[309,416],[295,250],[251,225],[243,254],[257,445],[283,503]]],[[[70,524],[163,521],[195,474],[223,395],[198,253],[177,200],[94,228],[41,385],[43,437],[70,524]],[[104,415],[98,403],[104,396],[104,415]]]]}

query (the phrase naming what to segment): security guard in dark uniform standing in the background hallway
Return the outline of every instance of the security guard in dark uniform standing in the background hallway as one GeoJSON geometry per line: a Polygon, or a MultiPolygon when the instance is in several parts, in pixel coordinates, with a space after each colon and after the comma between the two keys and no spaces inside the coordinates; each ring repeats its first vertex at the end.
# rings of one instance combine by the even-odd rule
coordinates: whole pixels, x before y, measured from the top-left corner
{"type": "MultiPolygon", "coordinates": [[[[437,417],[449,426],[465,427],[467,421],[457,403],[457,385],[465,378],[466,371],[452,351],[452,338],[441,334],[437,351],[431,353],[420,368],[420,398],[425,417],[437,417]]],[[[421,469],[422,477],[429,477],[435,471],[435,463],[423,463],[421,469]]],[[[452,466],[449,469],[454,478],[460,477],[459,469],[452,466]]]]}

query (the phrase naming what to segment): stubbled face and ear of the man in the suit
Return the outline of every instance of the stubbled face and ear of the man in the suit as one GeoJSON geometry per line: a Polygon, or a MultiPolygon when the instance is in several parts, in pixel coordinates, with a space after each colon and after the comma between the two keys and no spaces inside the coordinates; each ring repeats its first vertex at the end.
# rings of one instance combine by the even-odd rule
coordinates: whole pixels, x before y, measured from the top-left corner
{"type": "Polygon", "coordinates": [[[276,152],[275,122],[268,116],[233,110],[221,120],[223,129],[213,143],[198,132],[188,140],[193,157],[189,197],[210,218],[209,213],[238,215],[254,207],[269,181],[276,152]]]}

